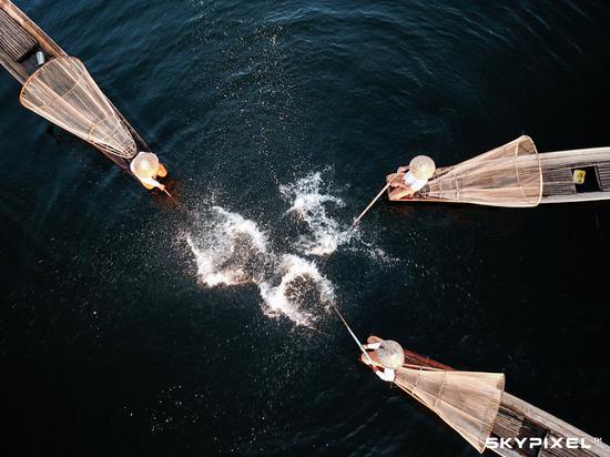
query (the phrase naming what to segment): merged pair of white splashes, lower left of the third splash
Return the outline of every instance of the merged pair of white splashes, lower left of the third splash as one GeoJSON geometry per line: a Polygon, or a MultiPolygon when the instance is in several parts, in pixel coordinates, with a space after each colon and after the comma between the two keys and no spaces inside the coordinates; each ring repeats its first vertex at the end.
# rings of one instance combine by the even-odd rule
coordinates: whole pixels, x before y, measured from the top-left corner
{"type": "Polygon", "coordinates": [[[186,242],[195,256],[197,277],[207,287],[255,284],[263,312],[314,326],[315,309],[335,299],[333,285],[313,262],[296,255],[277,255],[256,223],[214,206],[197,220],[197,235],[186,242]]]}

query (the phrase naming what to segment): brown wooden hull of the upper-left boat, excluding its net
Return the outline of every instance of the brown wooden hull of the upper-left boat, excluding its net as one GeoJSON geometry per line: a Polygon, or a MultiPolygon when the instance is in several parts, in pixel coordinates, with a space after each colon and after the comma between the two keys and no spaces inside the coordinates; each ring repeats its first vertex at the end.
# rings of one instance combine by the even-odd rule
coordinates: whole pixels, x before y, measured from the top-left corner
{"type": "MultiPolygon", "coordinates": [[[[69,55],[47,35],[42,29],[10,0],[0,0],[0,63],[2,63],[9,73],[23,85],[22,97],[27,84],[35,78],[40,70],[44,69],[57,59],[69,60],[72,58],[69,58],[69,55]],[[43,59],[44,62],[39,61],[39,59],[43,59]]],[[[73,60],[80,62],[77,59],[73,60]]],[[[87,73],[87,77],[89,77],[89,73],[87,73]]],[[[96,84],[94,85],[96,88],[96,84]]],[[[133,139],[135,151],[151,152],[151,149],[144,140],[138,134],[135,129],[133,129],[121,112],[116,110],[112,102],[110,102],[105,95],[101,94],[101,97],[110,104],[113,115],[120,120],[120,128],[126,129],[129,135],[133,139]]],[[[23,103],[23,99],[21,99],[21,101],[23,103]]],[[[89,140],[85,139],[85,141],[89,140]]],[[[110,153],[109,148],[104,148],[100,142],[89,142],[116,165],[132,174],[130,171],[129,156],[110,153]]]]}

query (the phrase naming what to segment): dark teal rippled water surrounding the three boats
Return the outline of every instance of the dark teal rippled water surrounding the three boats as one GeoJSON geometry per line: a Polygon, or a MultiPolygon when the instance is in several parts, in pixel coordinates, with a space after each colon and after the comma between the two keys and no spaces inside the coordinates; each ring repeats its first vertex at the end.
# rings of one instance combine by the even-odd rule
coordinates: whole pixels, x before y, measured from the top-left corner
{"type": "Polygon", "coordinates": [[[340,235],[416,153],[449,164],[521,133],[540,151],[609,145],[607,4],[18,4],[165,160],[187,214],[49,134],[0,78],[7,455],[476,455],[357,363],[311,285],[291,306],[314,328],[270,316],[260,284],[278,285],[284,254],[313,263],[360,336],[501,370],[510,393],[610,439],[610,204],[382,203],[321,256],[281,187],[319,173],[295,195],[340,235]],[[256,281],[202,283],[186,238],[226,247],[212,205],[265,236],[268,252],[246,237],[223,257],[256,281]]]}

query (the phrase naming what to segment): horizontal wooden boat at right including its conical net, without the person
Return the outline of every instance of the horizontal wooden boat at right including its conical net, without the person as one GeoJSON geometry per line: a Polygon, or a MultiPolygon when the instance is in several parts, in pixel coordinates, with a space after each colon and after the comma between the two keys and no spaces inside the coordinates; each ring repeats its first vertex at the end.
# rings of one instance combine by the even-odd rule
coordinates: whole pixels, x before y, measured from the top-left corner
{"type": "MultiPolygon", "coordinates": [[[[407,171],[401,167],[398,171],[407,171]]],[[[386,183],[400,179],[397,173],[386,183]]],[[[589,202],[610,199],[610,148],[538,153],[529,136],[435,171],[413,197],[394,202],[472,203],[531,207],[540,203],[589,202]]]]}

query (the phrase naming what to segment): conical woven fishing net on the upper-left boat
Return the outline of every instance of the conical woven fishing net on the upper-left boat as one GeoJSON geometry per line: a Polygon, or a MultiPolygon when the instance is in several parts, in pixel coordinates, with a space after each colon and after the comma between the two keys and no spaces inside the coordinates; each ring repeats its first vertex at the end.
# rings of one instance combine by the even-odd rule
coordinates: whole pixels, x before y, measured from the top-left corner
{"type": "Polygon", "coordinates": [[[23,84],[21,103],[110,154],[136,153],[133,136],[79,59],[47,62],[23,84]]]}

